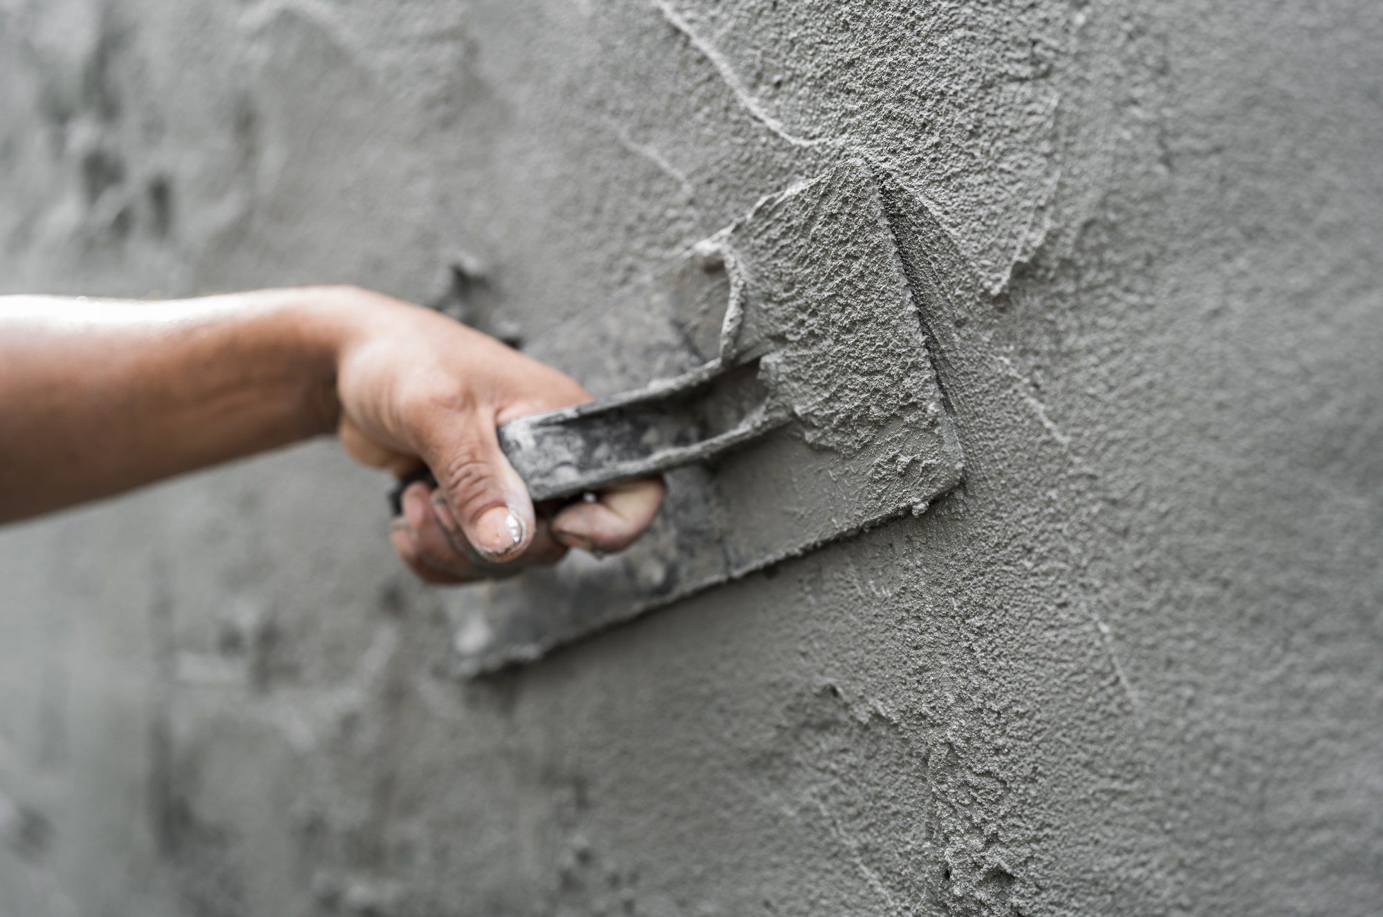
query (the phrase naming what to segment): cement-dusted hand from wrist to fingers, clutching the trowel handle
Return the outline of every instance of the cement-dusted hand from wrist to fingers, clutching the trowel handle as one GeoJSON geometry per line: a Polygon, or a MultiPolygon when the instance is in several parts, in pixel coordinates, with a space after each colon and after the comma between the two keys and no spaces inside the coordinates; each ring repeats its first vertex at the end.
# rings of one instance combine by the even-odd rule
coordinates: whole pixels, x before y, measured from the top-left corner
{"type": "Polygon", "coordinates": [[[389,538],[418,577],[461,584],[552,564],[568,548],[626,548],[662,502],[660,480],[611,485],[593,501],[534,506],[499,448],[496,427],[591,400],[570,376],[472,328],[366,290],[349,304],[337,355],[337,433],[358,461],[409,484],[389,538]]]}

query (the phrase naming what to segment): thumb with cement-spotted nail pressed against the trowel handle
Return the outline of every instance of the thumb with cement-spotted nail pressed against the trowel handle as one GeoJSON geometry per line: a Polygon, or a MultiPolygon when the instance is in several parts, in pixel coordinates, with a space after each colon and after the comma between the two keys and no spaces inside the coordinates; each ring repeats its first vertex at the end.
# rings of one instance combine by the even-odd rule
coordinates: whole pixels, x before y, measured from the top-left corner
{"type": "Polygon", "coordinates": [[[445,503],[437,521],[455,541],[465,538],[485,560],[503,563],[532,544],[532,499],[499,448],[495,425],[473,415],[447,425],[451,434],[423,445],[422,456],[445,503]]]}

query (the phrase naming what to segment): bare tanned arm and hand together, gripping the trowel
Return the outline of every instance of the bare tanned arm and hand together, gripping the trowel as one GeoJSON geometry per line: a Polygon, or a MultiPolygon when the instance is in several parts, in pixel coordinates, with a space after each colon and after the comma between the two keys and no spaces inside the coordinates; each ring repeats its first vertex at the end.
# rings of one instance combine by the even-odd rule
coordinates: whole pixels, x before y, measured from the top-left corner
{"type": "Polygon", "coordinates": [[[534,508],[495,429],[589,401],[444,315],[351,286],[137,302],[0,296],[0,523],[336,433],[404,491],[389,538],[427,582],[613,552],[661,481],[534,508]]]}

